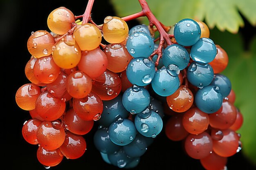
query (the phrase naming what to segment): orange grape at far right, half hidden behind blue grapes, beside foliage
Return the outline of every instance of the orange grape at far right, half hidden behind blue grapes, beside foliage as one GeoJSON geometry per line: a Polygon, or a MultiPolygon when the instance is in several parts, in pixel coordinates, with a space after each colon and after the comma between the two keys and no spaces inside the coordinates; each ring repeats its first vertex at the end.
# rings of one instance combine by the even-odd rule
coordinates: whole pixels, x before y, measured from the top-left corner
{"type": "Polygon", "coordinates": [[[227,52],[221,48],[221,46],[216,44],[217,54],[213,61],[209,62],[212,66],[214,74],[221,73],[227,67],[229,63],[229,57],[227,52]]]}

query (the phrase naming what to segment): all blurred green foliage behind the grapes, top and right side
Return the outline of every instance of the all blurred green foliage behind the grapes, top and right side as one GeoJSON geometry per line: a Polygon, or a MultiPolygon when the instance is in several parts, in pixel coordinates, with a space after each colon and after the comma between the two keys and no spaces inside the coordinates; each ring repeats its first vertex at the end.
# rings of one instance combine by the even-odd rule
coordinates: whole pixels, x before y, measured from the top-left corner
{"type": "MultiPolygon", "coordinates": [[[[111,0],[118,16],[141,10],[137,0],[111,0]]],[[[244,123],[238,132],[243,143],[242,153],[256,164],[256,37],[245,51],[241,14],[256,26],[256,0],[147,0],[156,18],[165,25],[173,25],[183,18],[203,20],[210,30],[210,38],[229,55],[229,64],[222,74],[229,77],[236,93],[235,106],[243,114],[244,123]],[[213,29],[214,28],[214,29],[213,29]],[[235,34],[236,33],[236,34],[235,34]]],[[[148,24],[146,17],[139,21],[148,24]]]]}

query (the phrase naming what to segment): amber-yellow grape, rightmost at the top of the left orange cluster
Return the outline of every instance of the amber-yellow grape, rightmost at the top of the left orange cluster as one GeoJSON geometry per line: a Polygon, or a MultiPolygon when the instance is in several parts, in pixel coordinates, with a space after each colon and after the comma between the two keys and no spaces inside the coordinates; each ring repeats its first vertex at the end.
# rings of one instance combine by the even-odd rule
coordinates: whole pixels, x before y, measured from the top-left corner
{"type": "Polygon", "coordinates": [[[109,43],[120,43],[128,36],[129,28],[119,17],[107,16],[102,25],[103,37],[109,43]]]}

